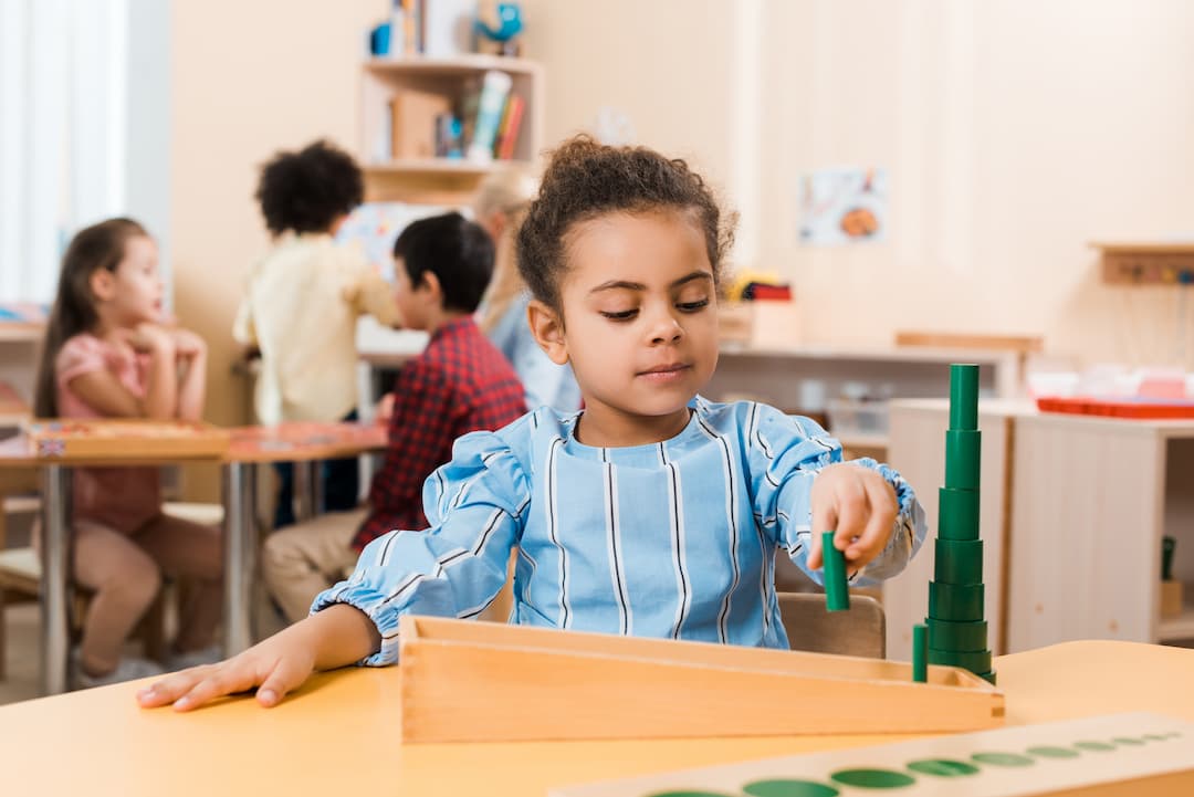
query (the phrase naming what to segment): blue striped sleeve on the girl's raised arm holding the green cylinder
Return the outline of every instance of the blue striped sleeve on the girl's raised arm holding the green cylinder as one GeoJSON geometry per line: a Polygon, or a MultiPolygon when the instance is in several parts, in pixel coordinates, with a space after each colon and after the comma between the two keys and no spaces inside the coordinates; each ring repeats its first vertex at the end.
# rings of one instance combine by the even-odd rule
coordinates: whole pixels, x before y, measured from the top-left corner
{"type": "MultiPolygon", "coordinates": [[[[755,512],[764,529],[773,530],[777,545],[817,583],[820,570],[808,569],[812,535],[812,487],[817,474],[842,462],[842,444],[807,418],[784,415],[765,404],[753,404],[745,421],[746,459],[755,512]]],[[[892,489],[899,513],[882,552],[861,570],[850,572],[850,583],[876,583],[898,574],[924,542],[924,508],[896,470],[874,459],[850,464],[876,471],[892,489]]],[[[823,529],[819,531],[830,531],[823,529]]]]}

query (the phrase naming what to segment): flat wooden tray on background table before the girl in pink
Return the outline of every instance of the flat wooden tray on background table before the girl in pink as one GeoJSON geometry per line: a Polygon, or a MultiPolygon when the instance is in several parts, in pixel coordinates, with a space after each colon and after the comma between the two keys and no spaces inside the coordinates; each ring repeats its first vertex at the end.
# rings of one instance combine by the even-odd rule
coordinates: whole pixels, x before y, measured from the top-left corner
{"type": "Polygon", "coordinates": [[[228,450],[226,430],[191,421],[37,420],[25,433],[44,458],[205,459],[228,450]]]}

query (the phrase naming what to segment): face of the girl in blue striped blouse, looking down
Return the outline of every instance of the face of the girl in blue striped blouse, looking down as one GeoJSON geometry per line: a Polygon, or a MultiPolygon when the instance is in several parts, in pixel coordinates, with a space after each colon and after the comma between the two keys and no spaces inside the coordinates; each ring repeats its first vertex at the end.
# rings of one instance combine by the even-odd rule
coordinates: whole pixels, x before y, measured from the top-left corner
{"type": "Polygon", "coordinates": [[[585,400],[583,434],[613,433],[585,441],[635,445],[678,433],[718,364],[704,236],[687,215],[665,211],[610,214],[568,237],[562,323],[544,327],[543,311],[533,311],[531,323],[548,356],[572,365],[585,400]]]}

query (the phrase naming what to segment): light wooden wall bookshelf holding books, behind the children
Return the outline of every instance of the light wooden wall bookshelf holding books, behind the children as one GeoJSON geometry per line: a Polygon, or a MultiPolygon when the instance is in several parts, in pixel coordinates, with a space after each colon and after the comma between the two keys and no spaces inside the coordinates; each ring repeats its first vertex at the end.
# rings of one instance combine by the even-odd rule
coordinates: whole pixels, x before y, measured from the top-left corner
{"type": "MultiPolygon", "coordinates": [[[[533,163],[543,141],[543,69],[525,58],[461,55],[377,57],[362,69],[361,163],[367,202],[427,204],[467,203],[478,183],[493,168],[533,163]],[[524,103],[522,124],[509,160],[480,162],[448,157],[393,156],[393,103],[402,92],[447,98],[460,109],[466,93],[480,86],[487,72],[510,76],[510,93],[524,103]]],[[[464,142],[467,147],[467,141],[464,142]]]]}

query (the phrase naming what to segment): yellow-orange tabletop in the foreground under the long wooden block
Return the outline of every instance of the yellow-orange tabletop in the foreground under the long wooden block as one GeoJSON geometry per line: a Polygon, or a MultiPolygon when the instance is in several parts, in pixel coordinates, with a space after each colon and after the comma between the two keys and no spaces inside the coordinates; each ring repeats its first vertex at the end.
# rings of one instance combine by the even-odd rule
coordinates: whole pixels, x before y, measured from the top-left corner
{"type": "MultiPolygon", "coordinates": [[[[996,661],[1008,723],[1119,711],[1194,721],[1194,650],[1072,642],[996,661]]],[[[319,675],[277,709],[235,698],[143,711],[135,684],[0,708],[0,777],[20,793],[531,797],[549,786],[910,739],[399,742],[400,668],[319,675]]],[[[776,706],[777,711],[786,710],[776,706]]],[[[799,710],[793,706],[790,710],[799,710]]]]}

